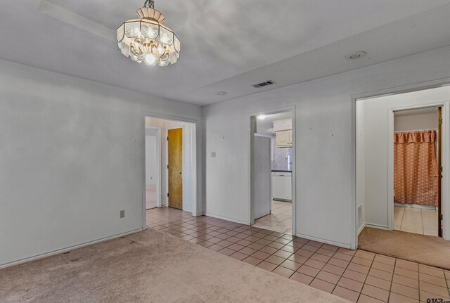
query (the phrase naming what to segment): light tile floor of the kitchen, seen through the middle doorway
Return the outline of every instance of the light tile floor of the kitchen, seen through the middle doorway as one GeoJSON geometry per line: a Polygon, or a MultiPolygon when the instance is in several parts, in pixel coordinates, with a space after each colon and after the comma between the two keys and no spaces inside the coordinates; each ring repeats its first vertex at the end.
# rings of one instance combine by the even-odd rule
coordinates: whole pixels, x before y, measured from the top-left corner
{"type": "Polygon", "coordinates": [[[272,200],[271,214],[255,220],[253,227],[292,235],[293,203],[272,200]]]}

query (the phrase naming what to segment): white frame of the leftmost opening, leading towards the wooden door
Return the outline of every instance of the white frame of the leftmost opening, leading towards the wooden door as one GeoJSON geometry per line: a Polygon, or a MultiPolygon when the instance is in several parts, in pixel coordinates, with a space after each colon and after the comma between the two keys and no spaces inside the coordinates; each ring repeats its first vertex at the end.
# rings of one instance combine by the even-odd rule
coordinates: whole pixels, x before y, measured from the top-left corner
{"type": "MultiPolygon", "coordinates": [[[[143,150],[143,157],[141,160],[142,167],[142,180],[141,180],[141,186],[142,186],[142,229],[145,230],[147,228],[147,213],[146,213],[146,117],[149,118],[155,118],[160,120],[170,120],[170,121],[176,121],[176,122],[186,122],[192,124],[192,138],[191,138],[191,144],[192,144],[192,195],[193,195],[193,205],[192,205],[192,215],[193,217],[202,216],[204,213],[205,206],[203,205],[203,176],[200,174],[200,172],[203,171],[203,167],[201,165],[202,163],[202,147],[201,147],[201,138],[202,138],[202,129],[199,127],[200,121],[199,120],[193,120],[193,119],[186,119],[184,117],[176,117],[171,115],[162,115],[162,114],[155,114],[154,112],[143,112],[143,123],[141,124],[141,134],[143,138],[142,144],[142,150],[143,150]],[[200,167],[198,167],[200,165],[200,167]]],[[[161,179],[161,178],[160,178],[161,179]]]]}

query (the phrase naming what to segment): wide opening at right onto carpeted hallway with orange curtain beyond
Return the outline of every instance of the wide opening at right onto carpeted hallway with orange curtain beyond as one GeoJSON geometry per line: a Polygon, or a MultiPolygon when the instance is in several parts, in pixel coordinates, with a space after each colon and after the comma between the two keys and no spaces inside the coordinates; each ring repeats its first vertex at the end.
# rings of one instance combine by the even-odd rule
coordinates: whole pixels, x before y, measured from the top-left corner
{"type": "Polygon", "coordinates": [[[449,100],[441,86],[356,101],[359,249],[435,266],[450,259],[449,100]]]}

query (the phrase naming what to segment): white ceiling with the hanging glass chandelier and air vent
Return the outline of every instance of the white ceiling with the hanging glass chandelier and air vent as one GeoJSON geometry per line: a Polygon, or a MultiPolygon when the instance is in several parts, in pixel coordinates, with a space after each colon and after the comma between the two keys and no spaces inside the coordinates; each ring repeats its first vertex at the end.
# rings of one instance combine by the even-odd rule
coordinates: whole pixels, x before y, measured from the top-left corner
{"type": "Polygon", "coordinates": [[[114,41],[143,2],[1,0],[0,58],[209,104],[450,45],[450,0],[156,0],[181,58],[149,67],[114,41]],[[366,58],[344,59],[361,50],[366,58]]]}

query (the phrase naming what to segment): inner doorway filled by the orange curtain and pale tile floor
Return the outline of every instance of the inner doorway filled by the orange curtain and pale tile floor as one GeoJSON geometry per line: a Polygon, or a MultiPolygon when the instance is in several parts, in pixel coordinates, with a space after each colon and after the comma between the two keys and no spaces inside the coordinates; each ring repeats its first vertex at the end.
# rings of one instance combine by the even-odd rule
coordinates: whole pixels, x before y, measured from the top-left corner
{"type": "Polygon", "coordinates": [[[394,230],[442,236],[441,126],[441,107],[394,111],[394,230]]]}

